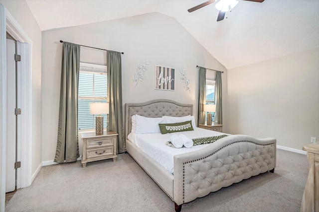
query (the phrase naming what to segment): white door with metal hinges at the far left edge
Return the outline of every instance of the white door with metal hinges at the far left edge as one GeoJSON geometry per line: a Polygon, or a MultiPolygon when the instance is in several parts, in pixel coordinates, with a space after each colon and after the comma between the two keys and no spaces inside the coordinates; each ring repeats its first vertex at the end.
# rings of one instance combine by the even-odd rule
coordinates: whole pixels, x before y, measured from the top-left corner
{"type": "Polygon", "coordinates": [[[7,114],[6,114],[6,184],[5,192],[15,190],[15,146],[16,146],[16,121],[15,121],[15,41],[6,39],[6,65],[7,65],[7,114]]]}

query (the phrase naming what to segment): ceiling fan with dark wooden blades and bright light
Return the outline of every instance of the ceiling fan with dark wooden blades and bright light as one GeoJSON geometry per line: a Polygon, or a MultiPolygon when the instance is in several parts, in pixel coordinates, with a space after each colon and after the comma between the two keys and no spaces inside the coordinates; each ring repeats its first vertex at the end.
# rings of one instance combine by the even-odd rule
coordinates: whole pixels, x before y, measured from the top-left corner
{"type": "MultiPolygon", "coordinates": [[[[198,4],[197,6],[194,6],[190,9],[188,9],[188,12],[193,12],[203,6],[207,6],[208,4],[214,3],[216,0],[208,0],[204,3],[198,4]]],[[[255,2],[263,2],[264,0],[248,0],[248,1],[255,1],[255,2]]],[[[232,8],[234,8],[237,5],[238,1],[237,0],[219,0],[215,7],[219,10],[218,16],[217,16],[217,21],[221,21],[225,17],[225,13],[227,11],[231,11],[232,8]]],[[[227,18],[227,17],[226,17],[227,18]]]]}

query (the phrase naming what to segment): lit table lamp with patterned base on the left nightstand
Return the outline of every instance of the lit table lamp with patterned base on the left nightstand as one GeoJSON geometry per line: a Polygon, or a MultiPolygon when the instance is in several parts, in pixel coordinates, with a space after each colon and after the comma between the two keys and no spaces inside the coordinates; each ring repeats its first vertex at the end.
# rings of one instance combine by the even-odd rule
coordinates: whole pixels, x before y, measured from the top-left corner
{"type": "Polygon", "coordinates": [[[91,103],[90,113],[92,115],[99,116],[95,117],[95,135],[103,135],[103,116],[101,114],[109,114],[109,103],[91,103]]]}

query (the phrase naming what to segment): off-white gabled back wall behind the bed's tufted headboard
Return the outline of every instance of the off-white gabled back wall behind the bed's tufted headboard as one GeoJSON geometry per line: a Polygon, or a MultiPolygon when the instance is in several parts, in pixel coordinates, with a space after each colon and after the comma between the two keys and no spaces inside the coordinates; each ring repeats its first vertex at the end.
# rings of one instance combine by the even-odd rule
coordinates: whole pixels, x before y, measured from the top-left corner
{"type": "MultiPolygon", "coordinates": [[[[167,98],[194,104],[193,113],[197,116],[196,65],[226,71],[175,19],[160,13],[44,31],[42,33],[43,161],[53,160],[56,149],[62,51],[59,40],[124,52],[123,104],[167,98]],[[133,73],[135,67],[143,60],[150,65],[145,72],[145,79],[134,87],[134,83],[131,82],[133,73]],[[175,91],[155,90],[155,65],[175,68],[175,91]],[[185,69],[187,77],[191,80],[190,93],[183,88],[179,79],[179,69],[185,69]]],[[[105,53],[96,53],[96,56],[92,57],[93,53],[89,54],[87,51],[81,48],[82,62],[106,63],[105,53]],[[104,54],[104,59],[101,54],[104,54]]]]}

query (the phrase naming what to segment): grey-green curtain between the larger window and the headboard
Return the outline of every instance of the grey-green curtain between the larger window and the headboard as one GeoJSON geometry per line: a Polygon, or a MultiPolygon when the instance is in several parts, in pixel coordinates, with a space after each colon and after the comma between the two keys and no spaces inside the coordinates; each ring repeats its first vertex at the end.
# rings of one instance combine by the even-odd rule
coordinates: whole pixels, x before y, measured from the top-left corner
{"type": "Polygon", "coordinates": [[[117,132],[117,153],[125,152],[125,136],[122,107],[121,53],[107,51],[109,131],[117,132]]]}

